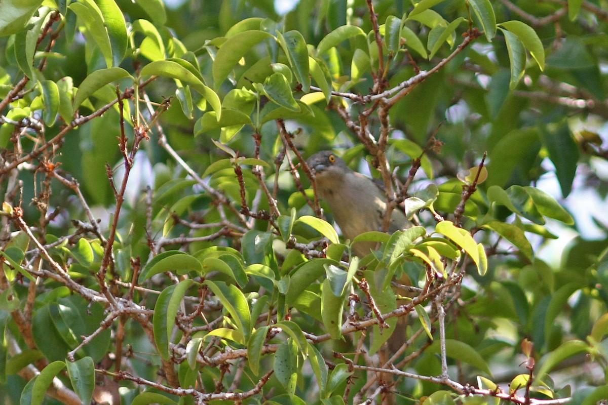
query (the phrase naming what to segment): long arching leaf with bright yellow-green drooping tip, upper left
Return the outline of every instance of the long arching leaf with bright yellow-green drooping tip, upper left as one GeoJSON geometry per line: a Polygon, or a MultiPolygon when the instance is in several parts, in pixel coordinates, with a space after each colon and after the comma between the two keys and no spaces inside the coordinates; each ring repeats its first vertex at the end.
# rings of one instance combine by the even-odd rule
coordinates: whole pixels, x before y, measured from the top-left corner
{"type": "Polygon", "coordinates": [[[170,77],[190,83],[215,111],[218,120],[221,119],[222,107],[218,95],[210,88],[202,83],[200,73],[196,72],[192,64],[184,60],[164,60],[148,63],[143,67],[142,76],[156,75],[162,77],[170,77]]]}

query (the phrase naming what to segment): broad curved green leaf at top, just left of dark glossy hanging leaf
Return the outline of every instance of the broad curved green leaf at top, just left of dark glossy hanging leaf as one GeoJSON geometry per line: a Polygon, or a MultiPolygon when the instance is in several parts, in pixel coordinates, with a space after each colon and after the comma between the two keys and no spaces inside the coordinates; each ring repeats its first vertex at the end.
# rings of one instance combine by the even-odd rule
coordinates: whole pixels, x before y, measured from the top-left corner
{"type": "Polygon", "coordinates": [[[219,86],[226,80],[230,70],[238,63],[238,61],[252,50],[257,44],[266,38],[271,37],[268,32],[260,30],[249,30],[231,36],[219,47],[218,52],[213,60],[213,86],[219,89],[219,86]]]}

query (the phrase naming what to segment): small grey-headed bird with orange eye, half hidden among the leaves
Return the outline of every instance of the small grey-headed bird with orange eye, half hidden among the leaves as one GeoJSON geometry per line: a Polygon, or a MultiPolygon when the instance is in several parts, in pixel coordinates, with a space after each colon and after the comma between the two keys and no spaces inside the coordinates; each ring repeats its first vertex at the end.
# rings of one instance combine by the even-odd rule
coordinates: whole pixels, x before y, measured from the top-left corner
{"type": "MultiPolygon", "coordinates": [[[[331,151],[312,155],[306,161],[311,168],[317,193],[334,214],[346,239],[369,231],[382,231],[382,215],[386,211],[386,195],[382,186],[369,177],[348,168],[346,162],[331,151]]],[[[393,209],[389,232],[411,225],[404,212],[393,209]]],[[[356,242],[354,253],[363,257],[376,248],[376,242],[356,242]]]]}

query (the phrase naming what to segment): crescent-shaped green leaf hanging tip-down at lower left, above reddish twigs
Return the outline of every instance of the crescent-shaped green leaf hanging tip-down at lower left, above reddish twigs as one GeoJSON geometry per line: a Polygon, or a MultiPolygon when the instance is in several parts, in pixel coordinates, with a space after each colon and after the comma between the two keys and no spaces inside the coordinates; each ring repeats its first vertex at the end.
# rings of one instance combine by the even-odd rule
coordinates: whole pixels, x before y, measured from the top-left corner
{"type": "Polygon", "coordinates": [[[152,327],[154,330],[154,342],[159,354],[165,360],[171,357],[169,342],[178,315],[179,305],[184,299],[188,288],[194,284],[193,280],[186,279],[179,284],[170,285],[159,294],[154,305],[152,327]]]}

